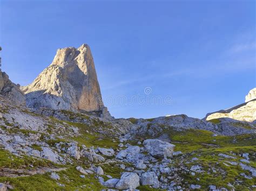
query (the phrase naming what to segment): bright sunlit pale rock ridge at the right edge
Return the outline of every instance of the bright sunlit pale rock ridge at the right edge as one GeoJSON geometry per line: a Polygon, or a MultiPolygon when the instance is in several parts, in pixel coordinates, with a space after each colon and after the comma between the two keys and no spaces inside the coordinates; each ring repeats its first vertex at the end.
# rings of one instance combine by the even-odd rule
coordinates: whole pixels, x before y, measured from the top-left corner
{"type": "Polygon", "coordinates": [[[238,121],[256,123],[256,88],[252,89],[245,98],[245,103],[226,110],[220,110],[206,115],[206,120],[231,118],[238,121]]]}

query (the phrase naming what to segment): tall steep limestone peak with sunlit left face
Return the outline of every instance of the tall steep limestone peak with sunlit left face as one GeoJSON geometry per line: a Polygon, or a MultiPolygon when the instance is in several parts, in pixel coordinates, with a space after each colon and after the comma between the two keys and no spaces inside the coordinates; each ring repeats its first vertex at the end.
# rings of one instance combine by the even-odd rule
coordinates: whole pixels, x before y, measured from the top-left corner
{"type": "Polygon", "coordinates": [[[90,47],[57,50],[51,65],[22,87],[29,108],[99,111],[104,108],[90,47]]]}

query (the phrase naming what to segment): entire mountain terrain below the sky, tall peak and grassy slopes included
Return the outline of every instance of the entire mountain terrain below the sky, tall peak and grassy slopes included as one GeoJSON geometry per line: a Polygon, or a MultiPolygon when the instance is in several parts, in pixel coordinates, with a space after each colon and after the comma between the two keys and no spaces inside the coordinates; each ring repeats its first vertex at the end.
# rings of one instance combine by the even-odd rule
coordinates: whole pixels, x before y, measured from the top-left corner
{"type": "Polygon", "coordinates": [[[255,88],[204,119],[114,119],[85,44],[19,88],[0,73],[0,190],[256,189],[255,88]]]}

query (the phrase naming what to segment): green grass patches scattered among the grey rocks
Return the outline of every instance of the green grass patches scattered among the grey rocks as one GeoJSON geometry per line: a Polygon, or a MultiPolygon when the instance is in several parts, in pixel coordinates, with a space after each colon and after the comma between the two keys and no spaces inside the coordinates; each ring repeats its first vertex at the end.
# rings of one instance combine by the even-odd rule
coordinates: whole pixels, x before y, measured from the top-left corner
{"type": "MultiPolygon", "coordinates": [[[[55,123],[63,123],[55,120],[55,123]]],[[[112,147],[117,148],[118,142],[113,142],[116,138],[111,138],[109,135],[100,135],[99,133],[92,132],[91,126],[86,126],[79,123],[65,122],[69,125],[77,126],[79,132],[82,133],[79,137],[68,137],[69,139],[76,140],[79,145],[86,146],[95,146],[95,147],[112,147]],[[89,131],[89,132],[88,132],[89,131]]],[[[95,126],[102,126],[95,122],[95,126]]],[[[54,126],[49,126],[49,132],[54,126]]],[[[109,128],[109,127],[107,127],[109,128]]],[[[28,132],[22,132],[28,133],[28,132]]],[[[233,184],[235,179],[241,180],[240,185],[235,186],[237,189],[247,189],[248,186],[253,185],[255,178],[252,180],[247,180],[240,176],[240,173],[245,173],[250,175],[248,171],[243,171],[239,166],[225,166],[223,162],[225,159],[220,159],[217,155],[218,153],[226,154],[241,154],[241,153],[250,153],[254,155],[254,158],[251,158],[251,166],[256,167],[255,164],[255,152],[256,152],[256,136],[255,135],[242,135],[234,137],[226,136],[217,136],[213,137],[212,132],[203,131],[203,130],[187,130],[187,131],[175,131],[173,129],[165,130],[164,133],[167,133],[171,139],[171,142],[176,145],[176,151],[182,151],[185,155],[185,161],[189,161],[189,164],[186,164],[188,168],[192,165],[199,164],[203,166],[204,173],[197,173],[196,176],[190,174],[183,174],[180,172],[180,176],[184,178],[184,184],[199,184],[203,189],[207,189],[208,185],[217,185],[219,187],[227,187],[227,183],[230,182],[233,184]],[[231,153],[232,152],[232,153],[231,153]],[[191,162],[193,157],[197,157],[199,160],[191,162]],[[254,161],[253,161],[254,160],[254,161]],[[216,169],[217,173],[213,173],[211,169],[216,169]],[[226,173],[221,174],[221,169],[226,173]],[[199,178],[198,181],[196,178],[199,178]]],[[[138,137],[140,140],[145,139],[145,137],[138,137]]],[[[147,136],[147,138],[150,138],[147,136]]],[[[60,142],[63,140],[56,140],[60,142]]],[[[134,142],[136,143],[136,142],[134,142]]],[[[55,144],[55,143],[52,143],[55,144]]],[[[36,149],[37,146],[35,145],[36,149]]],[[[39,149],[39,147],[38,147],[39,149]]],[[[238,155],[237,155],[238,157],[238,155]]],[[[241,159],[238,157],[232,161],[239,161],[241,159]]],[[[174,157],[173,159],[174,166],[179,165],[180,156],[174,157]]],[[[11,168],[30,168],[29,164],[33,164],[34,168],[38,166],[56,166],[51,164],[47,160],[37,160],[35,158],[24,157],[20,159],[15,155],[12,155],[6,151],[0,150],[0,168],[2,167],[11,167],[11,168]]],[[[22,178],[6,178],[1,177],[0,182],[10,181],[10,184],[16,188],[16,190],[100,190],[103,188],[93,175],[86,176],[85,179],[79,177],[75,166],[64,166],[69,167],[66,171],[58,172],[60,175],[59,183],[65,185],[65,187],[60,187],[57,185],[56,180],[50,179],[50,174],[43,175],[32,175],[22,178]],[[84,186],[85,185],[85,186],[84,186]],[[83,187],[84,186],[84,187],[83,187]]],[[[81,164],[79,164],[81,165],[81,164]]],[[[112,175],[114,178],[120,177],[122,170],[114,165],[103,165],[104,171],[112,175]]],[[[179,173],[179,172],[178,172],[179,173]]],[[[141,190],[153,190],[147,186],[140,187],[141,190]]]]}

